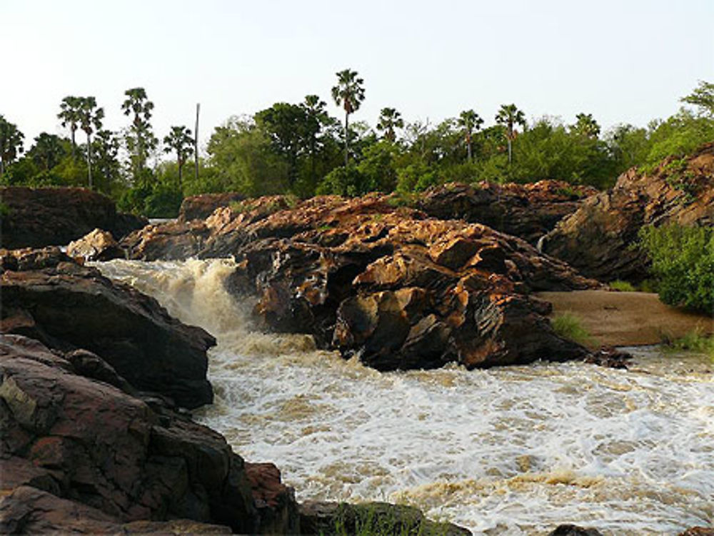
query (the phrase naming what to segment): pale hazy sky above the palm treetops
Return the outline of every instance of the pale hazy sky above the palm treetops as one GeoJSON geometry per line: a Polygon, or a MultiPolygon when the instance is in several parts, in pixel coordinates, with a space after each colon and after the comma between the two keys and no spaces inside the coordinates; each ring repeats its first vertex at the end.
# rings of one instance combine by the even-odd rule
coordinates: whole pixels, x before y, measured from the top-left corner
{"type": "Polygon", "coordinates": [[[96,96],[105,126],[128,124],[144,86],[154,129],[201,138],[231,115],[308,93],[328,102],[341,69],[365,80],[354,119],[398,108],[432,123],[501,103],[529,119],[593,113],[645,126],[714,81],[714,0],[0,0],[0,114],[25,133],[64,133],[67,95],[96,96]]]}

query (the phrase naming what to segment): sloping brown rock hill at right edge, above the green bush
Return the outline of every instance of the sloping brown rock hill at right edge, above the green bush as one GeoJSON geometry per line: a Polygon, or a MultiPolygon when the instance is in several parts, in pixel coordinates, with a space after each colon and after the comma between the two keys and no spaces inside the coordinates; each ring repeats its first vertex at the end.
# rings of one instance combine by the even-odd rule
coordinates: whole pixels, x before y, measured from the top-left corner
{"type": "Polygon", "coordinates": [[[714,143],[688,158],[666,158],[651,173],[623,173],[614,188],[585,200],[545,237],[543,251],[600,280],[641,280],[643,226],[714,225],[714,143]]]}

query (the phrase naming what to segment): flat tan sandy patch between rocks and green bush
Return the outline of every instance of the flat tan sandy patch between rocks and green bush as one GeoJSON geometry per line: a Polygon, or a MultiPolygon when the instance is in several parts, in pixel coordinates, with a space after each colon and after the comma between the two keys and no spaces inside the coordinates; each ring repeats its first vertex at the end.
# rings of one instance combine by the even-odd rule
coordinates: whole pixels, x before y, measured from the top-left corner
{"type": "Polygon", "coordinates": [[[553,304],[551,317],[572,313],[597,346],[658,344],[693,330],[714,333],[714,318],[665,305],[655,293],[573,290],[535,295],[553,304]]]}

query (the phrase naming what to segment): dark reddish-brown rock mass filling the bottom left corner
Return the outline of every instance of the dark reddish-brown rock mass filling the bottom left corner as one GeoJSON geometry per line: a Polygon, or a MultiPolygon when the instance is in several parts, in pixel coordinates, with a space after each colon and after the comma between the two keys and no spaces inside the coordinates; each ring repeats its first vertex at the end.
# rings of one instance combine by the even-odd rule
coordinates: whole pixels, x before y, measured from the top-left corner
{"type": "Polygon", "coordinates": [[[298,525],[293,492],[274,467],[249,477],[221,435],[76,363],[0,335],[1,532],[289,533],[298,525]]]}

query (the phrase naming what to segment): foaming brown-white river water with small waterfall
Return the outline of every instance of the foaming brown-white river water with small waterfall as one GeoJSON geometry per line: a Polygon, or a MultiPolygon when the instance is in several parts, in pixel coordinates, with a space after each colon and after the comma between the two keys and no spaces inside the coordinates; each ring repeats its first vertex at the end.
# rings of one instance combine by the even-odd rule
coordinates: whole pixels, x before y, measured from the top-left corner
{"type": "Polygon", "coordinates": [[[703,356],[378,373],[303,335],[251,329],[231,261],[112,261],[111,278],[216,335],[216,403],[196,414],[298,500],[389,500],[476,534],[561,522],[675,534],[714,517],[714,389],[703,356]]]}

